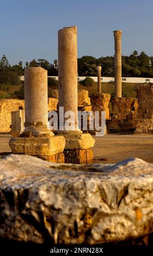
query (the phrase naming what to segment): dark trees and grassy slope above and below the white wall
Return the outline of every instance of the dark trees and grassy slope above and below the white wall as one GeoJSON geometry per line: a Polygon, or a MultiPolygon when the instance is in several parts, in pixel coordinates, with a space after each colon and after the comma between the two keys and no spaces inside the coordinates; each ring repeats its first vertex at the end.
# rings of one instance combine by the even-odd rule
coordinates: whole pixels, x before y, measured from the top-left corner
{"type": "MultiPolygon", "coordinates": [[[[79,83],[80,89],[89,90],[89,94],[97,91],[97,83],[89,76],[97,76],[97,65],[102,66],[102,76],[114,76],[114,57],[94,58],[83,56],[78,58],[78,75],[87,76],[84,81],[79,83]]],[[[11,66],[5,55],[0,60],[0,98],[17,97],[24,98],[23,82],[20,76],[24,74],[26,67],[41,66],[47,70],[48,76],[58,75],[58,62],[53,64],[45,59],[31,60],[23,66],[22,61],[11,66]]],[[[149,57],[144,52],[138,54],[133,51],[130,56],[122,56],[122,75],[123,77],[153,77],[153,56],[149,57]]],[[[123,96],[135,96],[134,83],[123,83],[123,96]]],[[[48,78],[48,92],[58,88],[58,82],[53,78],[48,78]]],[[[114,94],[114,83],[102,83],[102,92],[114,94]]]]}

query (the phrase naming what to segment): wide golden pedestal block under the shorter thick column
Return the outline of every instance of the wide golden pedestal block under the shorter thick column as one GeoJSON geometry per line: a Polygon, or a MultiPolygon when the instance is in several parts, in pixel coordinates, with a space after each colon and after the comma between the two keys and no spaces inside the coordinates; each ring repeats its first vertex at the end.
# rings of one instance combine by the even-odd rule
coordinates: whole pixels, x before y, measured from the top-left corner
{"type": "Polygon", "coordinates": [[[63,136],[53,136],[51,138],[11,138],[9,145],[13,154],[52,156],[63,152],[65,139],[63,136]]]}

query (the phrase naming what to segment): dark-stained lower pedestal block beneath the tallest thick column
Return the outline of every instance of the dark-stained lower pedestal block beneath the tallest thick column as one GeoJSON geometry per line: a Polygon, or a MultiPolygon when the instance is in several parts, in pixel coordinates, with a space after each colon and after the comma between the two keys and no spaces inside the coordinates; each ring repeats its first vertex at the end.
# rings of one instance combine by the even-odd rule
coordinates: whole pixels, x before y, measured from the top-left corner
{"type": "Polygon", "coordinates": [[[93,163],[93,149],[65,149],[64,150],[65,163],[93,163]]]}

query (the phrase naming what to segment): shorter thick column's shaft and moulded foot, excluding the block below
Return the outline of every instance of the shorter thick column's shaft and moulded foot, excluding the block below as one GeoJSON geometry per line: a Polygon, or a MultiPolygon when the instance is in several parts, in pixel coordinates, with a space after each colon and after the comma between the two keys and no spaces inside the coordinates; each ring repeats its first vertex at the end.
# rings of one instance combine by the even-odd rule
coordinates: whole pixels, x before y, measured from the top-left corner
{"type": "Polygon", "coordinates": [[[25,130],[52,133],[48,123],[47,70],[40,67],[25,69],[25,130]]]}

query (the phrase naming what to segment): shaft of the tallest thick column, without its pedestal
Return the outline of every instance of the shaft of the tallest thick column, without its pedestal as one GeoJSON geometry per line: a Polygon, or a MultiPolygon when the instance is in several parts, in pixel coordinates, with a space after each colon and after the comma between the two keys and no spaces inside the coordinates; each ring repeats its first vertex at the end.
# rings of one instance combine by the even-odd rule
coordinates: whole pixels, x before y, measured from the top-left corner
{"type": "MultiPolygon", "coordinates": [[[[75,113],[73,131],[78,130],[77,121],[77,27],[58,31],[58,89],[59,107],[75,113]]],[[[65,118],[64,121],[66,121],[65,118]]]]}

